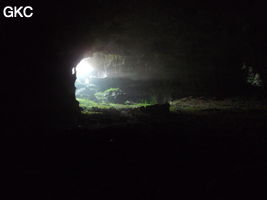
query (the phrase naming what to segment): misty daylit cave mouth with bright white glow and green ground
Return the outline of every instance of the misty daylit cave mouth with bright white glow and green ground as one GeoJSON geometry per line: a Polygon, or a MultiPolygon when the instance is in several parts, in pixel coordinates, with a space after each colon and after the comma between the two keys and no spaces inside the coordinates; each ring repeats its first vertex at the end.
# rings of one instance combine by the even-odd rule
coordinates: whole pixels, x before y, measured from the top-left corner
{"type": "Polygon", "coordinates": [[[166,80],[156,79],[140,59],[94,52],[80,60],[72,69],[80,108],[132,108],[168,102],[172,88],[166,87],[166,80]]]}

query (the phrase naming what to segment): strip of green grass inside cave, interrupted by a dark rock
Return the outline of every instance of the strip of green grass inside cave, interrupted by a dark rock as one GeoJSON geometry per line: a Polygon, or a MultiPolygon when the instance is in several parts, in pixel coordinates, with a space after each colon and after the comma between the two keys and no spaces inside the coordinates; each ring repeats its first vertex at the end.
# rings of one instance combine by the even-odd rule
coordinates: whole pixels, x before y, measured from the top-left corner
{"type": "MultiPolygon", "coordinates": [[[[135,104],[115,104],[115,103],[97,103],[88,99],[77,99],[80,103],[80,107],[83,108],[84,114],[99,114],[98,111],[108,110],[127,110],[138,107],[146,107],[153,105],[151,102],[143,101],[135,104]]],[[[239,98],[232,99],[212,99],[204,97],[186,97],[177,99],[170,102],[170,111],[173,113],[210,113],[220,111],[263,111],[267,112],[266,102],[259,102],[256,100],[246,100],[239,98]]]]}

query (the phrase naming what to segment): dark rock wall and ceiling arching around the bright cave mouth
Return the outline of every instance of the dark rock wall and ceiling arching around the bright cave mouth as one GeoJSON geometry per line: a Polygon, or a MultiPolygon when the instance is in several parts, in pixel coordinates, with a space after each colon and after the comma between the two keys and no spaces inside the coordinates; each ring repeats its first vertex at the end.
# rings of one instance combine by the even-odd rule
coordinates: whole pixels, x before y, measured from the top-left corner
{"type": "Polygon", "coordinates": [[[260,4],[171,4],[43,1],[31,5],[32,18],[1,18],[3,124],[38,130],[72,124],[79,108],[71,69],[93,52],[129,56],[134,64],[128,67],[141,72],[233,94],[241,88],[240,68],[249,62],[266,85],[266,12],[260,4]]]}

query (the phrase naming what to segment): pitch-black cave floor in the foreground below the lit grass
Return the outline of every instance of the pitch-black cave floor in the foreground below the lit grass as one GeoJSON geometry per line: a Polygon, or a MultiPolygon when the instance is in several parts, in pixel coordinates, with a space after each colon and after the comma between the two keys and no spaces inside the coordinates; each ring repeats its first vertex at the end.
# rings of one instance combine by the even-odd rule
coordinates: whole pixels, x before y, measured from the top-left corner
{"type": "Polygon", "coordinates": [[[91,113],[60,134],[11,138],[6,191],[32,199],[265,198],[265,110],[178,108],[91,113]]]}

